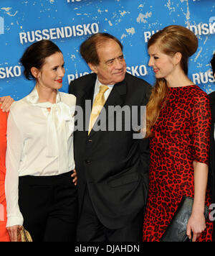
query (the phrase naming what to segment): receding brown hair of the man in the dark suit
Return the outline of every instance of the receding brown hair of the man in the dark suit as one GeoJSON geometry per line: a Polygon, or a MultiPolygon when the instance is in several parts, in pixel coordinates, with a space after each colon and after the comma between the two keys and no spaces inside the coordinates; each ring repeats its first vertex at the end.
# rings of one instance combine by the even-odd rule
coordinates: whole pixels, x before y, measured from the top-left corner
{"type": "Polygon", "coordinates": [[[116,37],[108,33],[97,33],[89,37],[85,42],[80,46],[80,54],[82,58],[85,59],[86,63],[91,63],[94,65],[100,64],[100,59],[97,55],[97,47],[102,46],[105,42],[109,40],[114,40],[120,45],[120,48],[123,50],[123,45],[116,37]]]}

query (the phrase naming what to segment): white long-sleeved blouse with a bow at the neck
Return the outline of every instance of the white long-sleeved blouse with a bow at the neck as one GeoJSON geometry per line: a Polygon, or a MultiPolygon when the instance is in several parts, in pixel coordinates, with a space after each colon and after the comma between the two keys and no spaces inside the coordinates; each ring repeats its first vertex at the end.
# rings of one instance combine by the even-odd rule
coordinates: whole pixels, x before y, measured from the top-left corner
{"type": "Polygon", "coordinates": [[[39,103],[36,87],[11,106],[6,150],[6,227],[22,225],[19,177],[50,176],[75,169],[73,151],[76,97],[57,93],[56,104],[39,103]],[[50,111],[47,110],[50,109],[50,111]]]}

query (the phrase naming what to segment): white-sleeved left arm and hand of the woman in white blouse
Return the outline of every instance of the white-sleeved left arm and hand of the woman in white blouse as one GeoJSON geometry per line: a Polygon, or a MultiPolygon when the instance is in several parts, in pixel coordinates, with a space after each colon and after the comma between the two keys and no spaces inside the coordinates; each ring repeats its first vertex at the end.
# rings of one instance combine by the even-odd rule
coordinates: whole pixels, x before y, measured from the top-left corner
{"type": "Polygon", "coordinates": [[[5,194],[7,205],[7,223],[11,241],[17,239],[17,229],[23,224],[19,210],[19,164],[22,156],[23,139],[20,127],[16,124],[13,111],[9,114],[7,124],[6,179],[5,194]]]}

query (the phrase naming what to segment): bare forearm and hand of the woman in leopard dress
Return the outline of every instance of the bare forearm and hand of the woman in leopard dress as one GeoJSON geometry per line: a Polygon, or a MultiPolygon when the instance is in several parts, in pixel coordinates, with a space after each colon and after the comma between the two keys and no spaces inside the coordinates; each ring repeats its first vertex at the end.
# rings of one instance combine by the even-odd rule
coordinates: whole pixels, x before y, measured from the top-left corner
{"type": "Polygon", "coordinates": [[[206,229],[204,207],[208,173],[208,165],[194,161],[194,206],[188,221],[186,232],[189,239],[191,239],[191,232],[193,232],[193,242],[196,242],[196,239],[200,237],[201,232],[204,232],[206,229]]]}

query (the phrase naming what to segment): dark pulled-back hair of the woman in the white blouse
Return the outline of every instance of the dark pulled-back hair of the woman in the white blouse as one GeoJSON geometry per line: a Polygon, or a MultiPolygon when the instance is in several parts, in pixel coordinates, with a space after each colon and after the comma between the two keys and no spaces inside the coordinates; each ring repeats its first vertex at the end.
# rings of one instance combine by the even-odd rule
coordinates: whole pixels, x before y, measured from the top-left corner
{"type": "Polygon", "coordinates": [[[24,67],[24,76],[28,80],[35,80],[36,78],[32,75],[31,68],[41,69],[45,58],[53,55],[55,52],[61,52],[61,50],[59,50],[59,47],[54,42],[49,40],[34,42],[33,45],[27,47],[27,50],[25,50],[24,55],[20,59],[24,67]]]}

